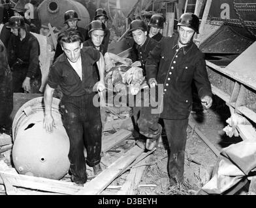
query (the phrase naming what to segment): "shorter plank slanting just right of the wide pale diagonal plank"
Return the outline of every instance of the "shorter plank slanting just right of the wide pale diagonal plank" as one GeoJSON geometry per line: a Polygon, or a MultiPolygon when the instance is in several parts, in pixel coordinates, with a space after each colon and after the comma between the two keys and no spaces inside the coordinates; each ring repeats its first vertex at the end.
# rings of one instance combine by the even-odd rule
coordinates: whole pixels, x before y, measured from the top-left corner
{"type": "Polygon", "coordinates": [[[144,166],[141,166],[141,165],[148,163],[150,161],[152,161],[152,155],[149,155],[148,157],[146,157],[145,160],[138,162],[139,167],[131,168],[130,173],[127,175],[125,179],[125,183],[116,194],[117,195],[136,195],[138,184],[142,179],[142,175],[144,171],[146,170],[146,168],[148,168],[148,166],[146,165],[144,166]]]}

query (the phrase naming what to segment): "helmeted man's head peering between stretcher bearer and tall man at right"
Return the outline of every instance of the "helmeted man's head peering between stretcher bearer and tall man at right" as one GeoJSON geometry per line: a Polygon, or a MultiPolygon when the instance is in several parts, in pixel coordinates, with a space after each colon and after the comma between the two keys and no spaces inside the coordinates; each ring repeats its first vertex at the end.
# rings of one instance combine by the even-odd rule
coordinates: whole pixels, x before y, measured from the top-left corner
{"type": "Polygon", "coordinates": [[[163,16],[161,16],[160,14],[153,14],[150,18],[150,22],[148,23],[148,25],[150,26],[148,36],[159,42],[163,38],[163,35],[160,33],[160,31],[161,29],[163,29],[164,22],[165,19],[163,18],[163,16]]]}

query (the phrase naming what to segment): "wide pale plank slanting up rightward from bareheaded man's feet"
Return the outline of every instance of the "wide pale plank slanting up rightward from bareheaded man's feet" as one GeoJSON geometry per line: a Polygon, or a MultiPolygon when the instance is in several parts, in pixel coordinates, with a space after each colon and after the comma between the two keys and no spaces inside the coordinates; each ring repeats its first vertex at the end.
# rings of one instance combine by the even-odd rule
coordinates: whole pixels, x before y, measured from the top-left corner
{"type": "Polygon", "coordinates": [[[103,170],[97,177],[84,185],[82,190],[76,194],[97,195],[100,194],[116,177],[127,168],[135,159],[143,153],[143,149],[134,146],[127,151],[120,159],[111,164],[107,169],[103,170]]]}

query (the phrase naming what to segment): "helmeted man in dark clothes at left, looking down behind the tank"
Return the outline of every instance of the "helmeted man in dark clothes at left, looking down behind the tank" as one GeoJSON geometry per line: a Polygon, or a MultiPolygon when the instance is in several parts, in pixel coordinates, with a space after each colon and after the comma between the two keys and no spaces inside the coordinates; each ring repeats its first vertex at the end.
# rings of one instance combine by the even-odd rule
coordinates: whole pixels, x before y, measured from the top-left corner
{"type": "Polygon", "coordinates": [[[33,34],[25,29],[24,18],[12,16],[7,28],[10,28],[10,49],[8,63],[12,70],[14,92],[39,93],[41,72],[39,66],[40,47],[33,34]]]}

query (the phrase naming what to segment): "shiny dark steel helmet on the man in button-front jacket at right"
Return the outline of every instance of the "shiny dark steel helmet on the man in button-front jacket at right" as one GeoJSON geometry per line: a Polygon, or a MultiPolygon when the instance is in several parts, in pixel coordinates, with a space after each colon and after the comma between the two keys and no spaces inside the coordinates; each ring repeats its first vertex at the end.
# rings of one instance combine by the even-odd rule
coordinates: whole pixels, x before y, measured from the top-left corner
{"type": "Polygon", "coordinates": [[[177,26],[189,27],[199,33],[199,18],[192,13],[184,13],[180,16],[177,26]]]}

